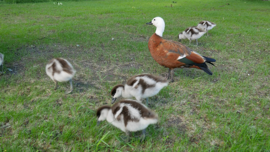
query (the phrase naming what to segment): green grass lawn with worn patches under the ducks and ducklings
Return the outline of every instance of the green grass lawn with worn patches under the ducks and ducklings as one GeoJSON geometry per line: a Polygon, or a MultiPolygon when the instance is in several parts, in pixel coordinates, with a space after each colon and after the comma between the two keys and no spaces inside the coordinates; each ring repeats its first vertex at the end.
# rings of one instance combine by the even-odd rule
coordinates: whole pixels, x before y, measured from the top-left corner
{"type": "Polygon", "coordinates": [[[270,150],[269,1],[112,0],[0,8],[6,71],[0,75],[0,151],[270,150]],[[157,16],[166,23],[164,39],[175,41],[186,27],[215,22],[210,35],[198,40],[201,45],[189,47],[216,59],[216,66],[209,66],[212,76],[175,69],[175,82],[149,99],[159,123],[147,128],[143,143],[123,143],[121,130],[107,122],[96,126],[95,110],[110,104],[110,89],[132,75],[165,77],[168,69],[147,47],[156,28],[145,23],[157,16]],[[46,75],[54,57],[76,70],[72,94],[64,95],[68,83],[55,91],[46,75]]]}

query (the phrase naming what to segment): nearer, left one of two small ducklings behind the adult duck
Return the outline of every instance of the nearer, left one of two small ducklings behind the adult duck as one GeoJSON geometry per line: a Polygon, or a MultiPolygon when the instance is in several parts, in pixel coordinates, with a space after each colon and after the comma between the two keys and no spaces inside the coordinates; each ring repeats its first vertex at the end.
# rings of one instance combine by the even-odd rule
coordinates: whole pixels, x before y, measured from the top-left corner
{"type": "Polygon", "coordinates": [[[202,37],[206,31],[200,30],[197,27],[188,27],[183,32],[178,34],[179,42],[181,42],[182,39],[188,39],[189,45],[191,43],[191,40],[196,40],[197,46],[198,46],[198,39],[202,37]]]}

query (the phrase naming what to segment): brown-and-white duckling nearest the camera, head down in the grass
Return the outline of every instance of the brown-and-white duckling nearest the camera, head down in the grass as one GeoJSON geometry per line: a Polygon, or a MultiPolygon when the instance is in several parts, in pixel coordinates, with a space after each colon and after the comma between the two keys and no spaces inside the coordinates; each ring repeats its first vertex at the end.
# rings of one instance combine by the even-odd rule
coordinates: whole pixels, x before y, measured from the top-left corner
{"type": "Polygon", "coordinates": [[[97,125],[106,120],[108,123],[124,131],[128,137],[130,132],[142,130],[141,141],[145,138],[145,130],[158,122],[158,115],[136,100],[122,100],[112,106],[103,105],[97,109],[97,125]]]}

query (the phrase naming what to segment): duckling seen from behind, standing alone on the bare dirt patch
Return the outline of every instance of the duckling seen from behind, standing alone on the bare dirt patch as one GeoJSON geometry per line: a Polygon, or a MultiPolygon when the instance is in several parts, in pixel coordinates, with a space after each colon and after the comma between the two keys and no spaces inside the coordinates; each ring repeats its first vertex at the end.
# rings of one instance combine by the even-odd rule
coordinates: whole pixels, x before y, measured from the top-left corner
{"type": "Polygon", "coordinates": [[[57,82],[69,81],[70,91],[66,92],[65,94],[69,94],[72,92],[72,78],[74,77],[75,70],[67,60],[62,58],[52,59],[46,65],[46,73],[54,81],[55,90],[57,89],[57,82]]]}

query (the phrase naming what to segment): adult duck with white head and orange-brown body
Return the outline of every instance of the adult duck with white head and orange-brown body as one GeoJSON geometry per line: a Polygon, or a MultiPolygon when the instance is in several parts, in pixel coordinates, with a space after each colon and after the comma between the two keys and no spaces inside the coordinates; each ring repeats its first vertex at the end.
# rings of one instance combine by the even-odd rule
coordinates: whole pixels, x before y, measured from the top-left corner
{"type": "Polygon", "coordinates": [[[215,62],[215,59],[202,56],[179,42],[162,39],[162,33],[165,29],[162,18],[156,17],[146,24],[157,27],[156,32],[149,39],[148,48],[153,59],[160,65],[169,68],[167,78],[171,78],[171,82],[173,81],[173,69],[177,67],[202,69],[212,75],[205,62],[212,64],[211,62],[215,62]]]}

